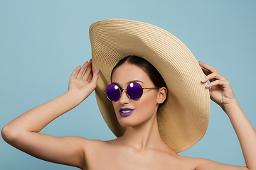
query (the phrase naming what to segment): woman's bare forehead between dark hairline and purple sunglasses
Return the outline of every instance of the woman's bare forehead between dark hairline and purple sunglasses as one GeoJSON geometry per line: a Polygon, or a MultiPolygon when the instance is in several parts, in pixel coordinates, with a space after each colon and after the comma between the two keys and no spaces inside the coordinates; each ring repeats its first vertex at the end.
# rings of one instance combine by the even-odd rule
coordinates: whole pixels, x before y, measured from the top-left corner
{"type": "Polygon", "coordinates": [[[134,64],[124,63],[117,67],[112,74],[112,82],[127,84],[129,81],[139,80],[144,83],[151,81],[144,70],[134,64]]]}

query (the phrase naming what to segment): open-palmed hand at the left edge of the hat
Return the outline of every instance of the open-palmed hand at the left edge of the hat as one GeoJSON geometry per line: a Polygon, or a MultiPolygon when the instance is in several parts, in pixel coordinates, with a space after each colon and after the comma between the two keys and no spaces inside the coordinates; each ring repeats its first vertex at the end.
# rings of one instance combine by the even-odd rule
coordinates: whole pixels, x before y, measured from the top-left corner
{"type": "Polygon", "coordinates": [[[78,93],[82,101],[96,88],[98,73],[100,69],[92,74],[92,60],[85,62],[82,67],[77,67],[70,76],[68,91],[78,93]]]}

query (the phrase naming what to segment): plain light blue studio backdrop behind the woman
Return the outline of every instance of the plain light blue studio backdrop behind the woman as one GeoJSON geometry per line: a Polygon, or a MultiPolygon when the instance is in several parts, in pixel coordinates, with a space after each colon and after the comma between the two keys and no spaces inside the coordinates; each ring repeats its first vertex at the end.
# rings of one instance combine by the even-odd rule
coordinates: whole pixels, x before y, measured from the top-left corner
{"type": "MultiPolygon", "coordinates": [[[[107,18],[143,21],[175,35],[198,61],[213,65],[228,78],[256,128],[255,8],[253,0],[0,0],[0,128],[67,91],[73,69],[91,58],[90,24],[107,18]]],[[[41,132],[114,138],[100,115],[95,94],[41,132]]],[[[3,170],[76,169],[33,158],[2,138],[0,151],[3,170]]],[[[181,154],[245,165],[228,116],[213,102],[206,135],[181,154]]]]}

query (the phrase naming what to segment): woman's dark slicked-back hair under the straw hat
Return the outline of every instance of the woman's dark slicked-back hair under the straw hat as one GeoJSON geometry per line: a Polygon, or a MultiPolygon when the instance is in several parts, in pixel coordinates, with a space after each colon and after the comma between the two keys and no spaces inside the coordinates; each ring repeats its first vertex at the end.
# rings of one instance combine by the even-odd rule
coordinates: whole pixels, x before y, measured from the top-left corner
{"type": "MultiPolygon", "coordinates": [[[[117,69],[117,67],[121,66],[124,63],[134,64],[137,67],[142,68],[144,70],[144,72],[146,72],[146,74],[149,75],[149,78],[153,82],[154,86],[156,86],[156,87],[164,86],[167,89],[166,83],[165,83],[163,77],[161,77],[161,74],[157,71],[157,69],[150,62],[148,62],[144,58],[138,57],[136,55],[129,55],[127,57],[124,57],[122,60],[120,60],[117,63],[117,65],[112,69],[111,79],[112,79],[112,74],[113,74],[114,70],[117,69]]],[[[166,99],[167,99],[167,96],[166,96],[166,99]]],[[[161,106],[163,106],[165,102],[166,102],[166,100],[159,105],[159,108],[161,106]]]]}

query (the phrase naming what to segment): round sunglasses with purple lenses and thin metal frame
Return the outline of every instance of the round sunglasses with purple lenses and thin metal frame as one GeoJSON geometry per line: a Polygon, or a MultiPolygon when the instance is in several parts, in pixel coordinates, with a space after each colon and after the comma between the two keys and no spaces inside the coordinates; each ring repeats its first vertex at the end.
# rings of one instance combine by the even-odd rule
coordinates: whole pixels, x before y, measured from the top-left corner
{"type": "Polygon", "coordinates": [[[127,89],[122,89],[117,84],[110,84],[107,86],[105,93],[110,101],[117,101],[120,98],[122,91],[126,91],[127,96],[132,100],[137,100],[142,97],[144,89],[159,89],[159,87],[144,88],[138,83],[131,83],[127,86],[127,89]]]}

